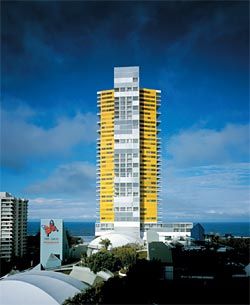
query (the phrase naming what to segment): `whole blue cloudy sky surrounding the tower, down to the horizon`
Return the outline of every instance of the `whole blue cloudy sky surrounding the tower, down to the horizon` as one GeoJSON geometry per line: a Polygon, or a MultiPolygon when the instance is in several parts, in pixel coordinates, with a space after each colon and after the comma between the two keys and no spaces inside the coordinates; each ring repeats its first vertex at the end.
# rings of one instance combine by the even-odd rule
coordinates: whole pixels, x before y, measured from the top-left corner
{"type": "Polygon", "coordinates": [[[95,217],[96,92],[162,90],[166,221],[249,221],[249,4],[2,3],[1,190],[29,219],[95,217]]]}

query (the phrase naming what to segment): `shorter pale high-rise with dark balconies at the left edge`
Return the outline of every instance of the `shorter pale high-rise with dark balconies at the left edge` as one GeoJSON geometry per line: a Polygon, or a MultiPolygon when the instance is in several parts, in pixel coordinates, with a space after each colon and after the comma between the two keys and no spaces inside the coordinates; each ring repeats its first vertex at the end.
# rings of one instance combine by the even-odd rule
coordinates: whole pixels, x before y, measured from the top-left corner
{"type": "Polygon", "coordinates": [[[27,247],[28,200],[0,192],[0,258],[22,257],[27,247]]]}

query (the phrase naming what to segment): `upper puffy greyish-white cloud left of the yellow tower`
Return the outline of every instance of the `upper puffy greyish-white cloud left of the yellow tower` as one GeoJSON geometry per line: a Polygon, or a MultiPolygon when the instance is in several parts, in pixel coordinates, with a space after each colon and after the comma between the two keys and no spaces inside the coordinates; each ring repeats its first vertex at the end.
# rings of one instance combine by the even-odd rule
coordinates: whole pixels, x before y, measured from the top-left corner
{"type": "Polygon", "coordinates": [[[96,139],[96,116],[91,113],[59,117],[51,128],[34,123],[38,116],[27,106],[1,111],[3,166],[16,168],[23,166],[30,157],[67,154],[76,145],[92,143],[96,139]]]}

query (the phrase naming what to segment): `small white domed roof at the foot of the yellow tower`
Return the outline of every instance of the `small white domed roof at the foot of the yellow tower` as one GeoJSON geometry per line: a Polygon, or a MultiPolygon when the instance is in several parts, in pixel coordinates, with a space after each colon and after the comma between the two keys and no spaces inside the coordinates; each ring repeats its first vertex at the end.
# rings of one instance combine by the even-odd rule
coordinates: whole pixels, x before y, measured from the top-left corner
{"type": "Polygon", "coordinates": [[[92,240],[88,247],[92,249],[102,249],[103,246],[100,244],[101,240],[109,239],[111,242],[111,248],[122,247],[127,244],[143,244],[143,241],[139,238],[132,237],[130,235],[118,234],[118,233],[107,233],[102,236],[99,236],[92,240]]]}

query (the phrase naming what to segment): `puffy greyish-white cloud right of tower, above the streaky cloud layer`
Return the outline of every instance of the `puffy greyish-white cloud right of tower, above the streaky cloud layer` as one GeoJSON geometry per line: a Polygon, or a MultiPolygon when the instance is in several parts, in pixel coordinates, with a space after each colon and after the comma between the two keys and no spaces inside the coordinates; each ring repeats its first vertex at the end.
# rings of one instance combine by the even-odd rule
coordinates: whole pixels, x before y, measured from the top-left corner
{"type": "Polygon", "coordinates": [[[222,130],[184,130],[173,135],[168,152],[175,166],[199,166],[249,160],[249,125],[222,130]]]}

